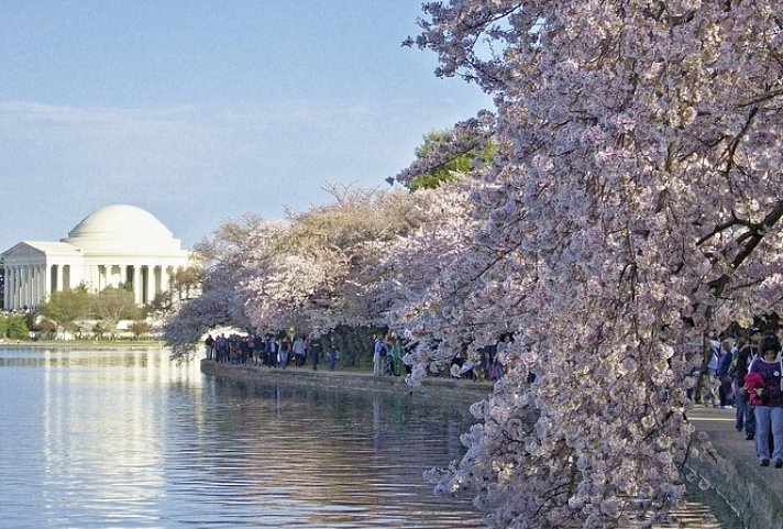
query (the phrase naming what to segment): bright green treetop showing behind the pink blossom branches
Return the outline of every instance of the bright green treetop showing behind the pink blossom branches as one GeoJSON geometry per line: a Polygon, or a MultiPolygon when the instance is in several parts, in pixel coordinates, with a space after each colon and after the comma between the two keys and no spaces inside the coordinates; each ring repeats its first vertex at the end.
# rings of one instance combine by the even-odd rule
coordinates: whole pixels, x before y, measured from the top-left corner
{"type": "MultiPolygon", "coordinates": [[[[424,143],[422,143],[416,150],[416,157],[419,159],[424,159],[432,156],[438,150],[439,145],[446,144],[451,140],[451,131],[434,131],[424,135],[424,143]]],[[[495,154],[495,146],[489,143],[483,152],[477,150],[467,151],[463,154],[453,156],[446,162],[441,163],[432,169],[421,173],[416,178],[410,180],[408,188],[411,191],[417,189],[434,189],[441,185],[443,181],[452,181],[455,178],[455,174],[471,173],[476,168],[478,164],[488,162],[493,154],[495,154]]]]}

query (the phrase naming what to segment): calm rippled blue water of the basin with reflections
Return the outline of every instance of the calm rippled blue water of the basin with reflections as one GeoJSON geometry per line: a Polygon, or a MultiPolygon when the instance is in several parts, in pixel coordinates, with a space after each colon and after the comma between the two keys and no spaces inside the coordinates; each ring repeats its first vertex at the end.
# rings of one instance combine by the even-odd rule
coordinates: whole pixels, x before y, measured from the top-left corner
{"type": "MultiPolygon", "coordinates": [[[[161,351],[0,349],[0,528],[479,528],[421,477],[470,423],[161,351]]],[[[662,527],[724,526],[694,503],[662,527]]]]}

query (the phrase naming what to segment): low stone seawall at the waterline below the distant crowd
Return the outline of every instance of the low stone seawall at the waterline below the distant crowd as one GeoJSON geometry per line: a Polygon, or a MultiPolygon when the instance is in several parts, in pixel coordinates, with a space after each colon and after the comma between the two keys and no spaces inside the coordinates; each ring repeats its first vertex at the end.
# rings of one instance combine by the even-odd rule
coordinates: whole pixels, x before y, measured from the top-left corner
{"type": "Polygon", "coordinates": [[[289,367],[273,370],[265,366],[228,364],[211,360],[201,361],[201,372],[207,375],[263,381],[330,390],[379,392],[408,395],[413,400],[470,406],[486,398],[492,385],[484,382],[451,378],[427,378],[420,385],[406,384],[402,376],[373,376],[372,373],[345,371],[312,371],[289,367]]]}

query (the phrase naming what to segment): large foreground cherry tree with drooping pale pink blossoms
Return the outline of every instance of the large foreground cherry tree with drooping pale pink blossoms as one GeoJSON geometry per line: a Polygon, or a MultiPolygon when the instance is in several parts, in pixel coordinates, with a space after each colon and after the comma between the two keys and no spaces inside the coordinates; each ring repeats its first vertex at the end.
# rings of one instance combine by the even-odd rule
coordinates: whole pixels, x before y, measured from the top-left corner
{"type": "MultiPolygon", "coordinates": [[[[685,464],[710,448],[685,411],[699,337],[783,299],[782,8],[424,4],[408,44],[496,103],[451,153],[489,136],[497,153],[474,175],[472,242],[394,324],[439,344],[420,365],[516,332],[466,455],[432,473],[489,527],[651,524],[697,480],[685,464]]],[[[428,241],[442,239],[420,239],[422,254],[428,241]]]]}

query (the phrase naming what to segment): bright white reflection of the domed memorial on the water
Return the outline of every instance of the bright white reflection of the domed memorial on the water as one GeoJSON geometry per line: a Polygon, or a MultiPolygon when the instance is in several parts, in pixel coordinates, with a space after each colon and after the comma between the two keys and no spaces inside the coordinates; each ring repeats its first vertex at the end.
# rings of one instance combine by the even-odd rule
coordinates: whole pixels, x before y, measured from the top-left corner
{"type": "Polygon", "coordinates": [[[47,507],[80,527],[159,520],[168,410],[155,388],[200,381],[198,372],[159,351],[55,350],[37,360],[47,507]]]}

